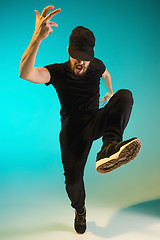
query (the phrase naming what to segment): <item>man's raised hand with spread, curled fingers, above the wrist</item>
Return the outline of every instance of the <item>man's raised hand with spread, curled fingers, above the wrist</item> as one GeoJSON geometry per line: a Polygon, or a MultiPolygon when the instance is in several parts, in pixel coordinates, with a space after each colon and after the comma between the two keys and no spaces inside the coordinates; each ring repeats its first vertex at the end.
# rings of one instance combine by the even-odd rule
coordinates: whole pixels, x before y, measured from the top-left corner
{"type": "Polygon", "coordinates": [[[61,12],[61,9],[58,8],[47,15],[47,12],[51,9],[54,9],[53,5],[47,6],[43,9],[42,14],[35,10],[36,13],[36,24],[34,36],[39,40],[43,40],[48,37],[49,34],[52,34],[53,29],[51,27],[58,27],[58,24],[55,22],[50,22],[51,18],[56,14],[61,12]]]}

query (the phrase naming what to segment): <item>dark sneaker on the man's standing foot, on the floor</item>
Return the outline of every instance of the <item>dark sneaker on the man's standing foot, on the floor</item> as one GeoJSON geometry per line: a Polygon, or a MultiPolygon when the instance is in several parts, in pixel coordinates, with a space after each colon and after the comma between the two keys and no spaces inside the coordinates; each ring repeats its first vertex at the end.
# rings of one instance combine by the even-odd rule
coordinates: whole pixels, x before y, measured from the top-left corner
{"type": "Polygon", "coordinates": [[[86,209],[83,214],[78,214],[75,210],[74,228],[79,234],[83,234],[86,231],[86,209]]]}

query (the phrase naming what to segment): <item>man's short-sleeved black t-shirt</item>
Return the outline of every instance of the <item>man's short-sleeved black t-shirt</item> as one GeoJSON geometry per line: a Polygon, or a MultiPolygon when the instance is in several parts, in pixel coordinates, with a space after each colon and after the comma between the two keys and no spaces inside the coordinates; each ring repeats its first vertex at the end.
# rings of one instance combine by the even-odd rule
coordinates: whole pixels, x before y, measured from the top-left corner
{"type": "Polygon", "coordinates": [[[61,103],[61,117],[79,112],[92,112],[99,108],[99,84],[105,65],[94,58],[84,76],[77,76],[70,67],[70,61],[45,66],[61,103]]]}

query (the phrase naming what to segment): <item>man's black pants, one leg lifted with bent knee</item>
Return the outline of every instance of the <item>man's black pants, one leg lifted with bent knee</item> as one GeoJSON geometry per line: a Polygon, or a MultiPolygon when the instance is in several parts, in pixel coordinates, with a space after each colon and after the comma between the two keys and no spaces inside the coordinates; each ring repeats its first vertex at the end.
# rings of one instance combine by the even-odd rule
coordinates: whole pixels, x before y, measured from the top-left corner
{"type": "Polygon", "coordinates": [[[132,93],[121,89],[101,109],[93,113],[74,114],[62,121],[61,156],[65,184],[71,206],[85,205],[84,168],[94,140],[103,137],[103,145],[122,141],[133,105],[132,93]]]}

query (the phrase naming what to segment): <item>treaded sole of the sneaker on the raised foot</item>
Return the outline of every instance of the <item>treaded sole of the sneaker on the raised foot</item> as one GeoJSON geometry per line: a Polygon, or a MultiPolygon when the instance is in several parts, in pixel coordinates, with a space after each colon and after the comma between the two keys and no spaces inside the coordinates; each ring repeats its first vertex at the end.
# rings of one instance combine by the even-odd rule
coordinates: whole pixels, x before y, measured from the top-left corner
{"type": "Polygon", "coordinates": [[[111,172],[114,169],[130,162],[139,153],[141,141],[136,138],[133,141],[125,144],[120,150],[111,155],[109,158],[103,158],[96,162],[96,170],[99,173],[111,172]]]}

